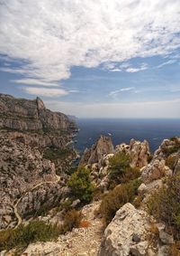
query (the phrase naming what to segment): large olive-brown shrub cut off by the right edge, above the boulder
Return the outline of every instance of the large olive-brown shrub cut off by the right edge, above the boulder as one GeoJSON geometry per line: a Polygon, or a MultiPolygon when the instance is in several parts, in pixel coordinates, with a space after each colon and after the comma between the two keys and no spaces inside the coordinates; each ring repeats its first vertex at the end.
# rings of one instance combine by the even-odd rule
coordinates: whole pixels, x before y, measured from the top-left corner
{"type": "Polygon", "coordinates": [[[168,178],[166,185],[148,199],[148,213],[166,223],[177,239],[180,239],[180,176],[168,178]]]}

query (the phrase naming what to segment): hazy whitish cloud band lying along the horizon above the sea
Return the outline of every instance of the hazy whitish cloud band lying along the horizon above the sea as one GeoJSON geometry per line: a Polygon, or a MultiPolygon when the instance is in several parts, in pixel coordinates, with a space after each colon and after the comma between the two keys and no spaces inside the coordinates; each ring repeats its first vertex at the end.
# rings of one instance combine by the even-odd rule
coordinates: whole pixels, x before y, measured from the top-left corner
{"type": "Polygon", "coordinates": [[[130,102],[130,103],[72,103],[48,101],[49,109],[83,118],[160,118],[180,119],[180,100],[130,102]]]}

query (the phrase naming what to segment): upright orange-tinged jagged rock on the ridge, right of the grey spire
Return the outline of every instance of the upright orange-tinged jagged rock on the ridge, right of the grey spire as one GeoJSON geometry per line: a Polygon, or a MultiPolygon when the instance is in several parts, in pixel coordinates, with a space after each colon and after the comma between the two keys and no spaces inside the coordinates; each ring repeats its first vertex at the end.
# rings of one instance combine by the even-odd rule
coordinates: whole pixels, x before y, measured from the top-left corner
{"type": "Polygon", "coordinates": [[[122,143],[116,146],[116,152],[125,151],[130,155],[132,167],[143,167],[148,165],[148,158],[150,156],[148,141],[143,142],[137,141],[135,139],[130,139],[130,145],[122,143]]]}

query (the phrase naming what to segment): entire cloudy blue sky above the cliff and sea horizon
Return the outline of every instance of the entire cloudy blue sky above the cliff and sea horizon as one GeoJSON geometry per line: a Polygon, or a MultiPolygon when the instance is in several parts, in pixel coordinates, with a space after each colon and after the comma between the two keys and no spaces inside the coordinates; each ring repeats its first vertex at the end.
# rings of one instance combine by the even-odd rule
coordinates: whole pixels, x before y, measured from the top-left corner
{"type": "Polygon", "coordinates": [[[180,0],[0,0],[0,92],[82,118],[180,118],[180,0]]]}

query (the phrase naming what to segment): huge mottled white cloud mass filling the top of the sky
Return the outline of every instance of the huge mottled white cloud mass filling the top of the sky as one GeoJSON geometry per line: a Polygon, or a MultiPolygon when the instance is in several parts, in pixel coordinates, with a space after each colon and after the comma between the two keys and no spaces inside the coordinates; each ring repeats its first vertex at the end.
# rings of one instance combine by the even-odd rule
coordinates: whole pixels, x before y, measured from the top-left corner
{"type": "Polygon", "coordinates": [[[179,0],[1,0],[0,53],[25,61],[3,69],[56,83],[73,66],[168,55],[180,46],[179,12],[179,0]]]}

